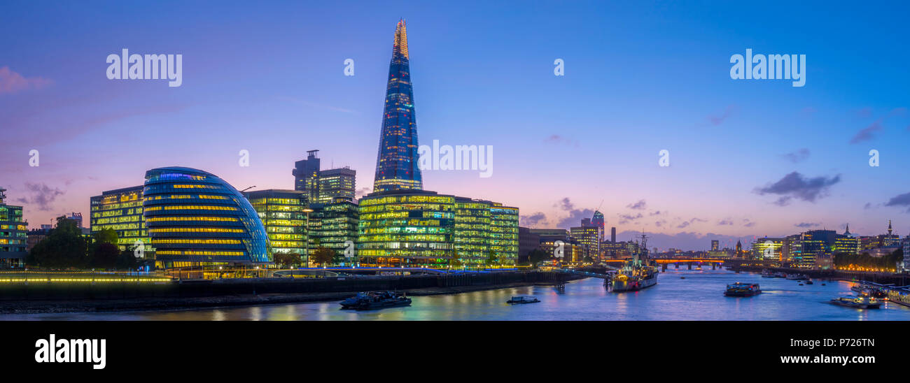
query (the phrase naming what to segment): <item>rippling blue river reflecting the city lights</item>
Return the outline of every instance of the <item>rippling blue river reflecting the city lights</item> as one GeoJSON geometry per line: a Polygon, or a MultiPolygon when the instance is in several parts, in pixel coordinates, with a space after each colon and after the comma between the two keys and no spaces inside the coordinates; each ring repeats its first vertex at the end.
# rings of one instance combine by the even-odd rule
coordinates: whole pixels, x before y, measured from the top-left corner
{"type": "Polygon", "coordinates": [[[373,311],[339,309],[338,301],[268,306],[0,315],[0,320],[910,320],[910,308],[885,302],[881,309],[851,309],[828,300],[854,295],[852,283],[762,278],[730,270],[669,269],[652,288],[625,293],[604,289],[602,280],[549,286],[411,297],[410,307],[373,311]],[[682,278],[684,277],[684,278],[682,278]],[[723,296],[727,283],[760,283],[749,298],[723,296]],[[823,283],[825,284],[823,286],[823,283]],[[541,303],[509,305],[513,295],[534,295],[541,303]]]}

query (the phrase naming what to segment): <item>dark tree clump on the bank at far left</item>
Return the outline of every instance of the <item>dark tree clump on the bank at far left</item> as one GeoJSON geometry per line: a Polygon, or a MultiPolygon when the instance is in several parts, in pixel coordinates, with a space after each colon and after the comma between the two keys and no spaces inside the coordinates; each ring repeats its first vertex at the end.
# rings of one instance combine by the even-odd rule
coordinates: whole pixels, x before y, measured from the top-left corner
{"type": "Polygon", "coordinates": [[[88,261],[87,250],[86,239],[76,221],[57,217],[56,227],[32,248],[25,262],[45,268],[81,268],[88,261]]]}

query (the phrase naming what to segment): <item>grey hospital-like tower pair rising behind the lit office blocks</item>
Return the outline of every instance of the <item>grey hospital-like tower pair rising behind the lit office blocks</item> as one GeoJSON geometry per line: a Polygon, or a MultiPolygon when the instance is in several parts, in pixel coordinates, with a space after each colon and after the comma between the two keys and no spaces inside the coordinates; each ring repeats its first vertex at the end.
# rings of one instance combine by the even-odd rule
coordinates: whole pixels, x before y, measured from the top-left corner
{"type": "Polygon", "coordinates": [[[354,201],[357,171],[349,167],[321,170],[318,150],[307,151],[307,159],[294,162],[294,190],[306,191],[309,202],[354,201]]]}

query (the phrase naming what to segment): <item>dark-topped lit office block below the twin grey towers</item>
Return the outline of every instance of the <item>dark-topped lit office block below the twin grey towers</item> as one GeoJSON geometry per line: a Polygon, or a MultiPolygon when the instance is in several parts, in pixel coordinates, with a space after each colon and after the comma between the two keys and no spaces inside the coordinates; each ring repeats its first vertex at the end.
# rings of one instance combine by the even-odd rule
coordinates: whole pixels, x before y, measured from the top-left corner
{"type": "MultiPolygon", "coordinates": [[[[334,265],[356,264],[359,211],[352,201],[310,203],[308,250],[324,247],[335,251],[334,265]]],[[[312,266],[312,265],[311,265],[312,266]]]]}

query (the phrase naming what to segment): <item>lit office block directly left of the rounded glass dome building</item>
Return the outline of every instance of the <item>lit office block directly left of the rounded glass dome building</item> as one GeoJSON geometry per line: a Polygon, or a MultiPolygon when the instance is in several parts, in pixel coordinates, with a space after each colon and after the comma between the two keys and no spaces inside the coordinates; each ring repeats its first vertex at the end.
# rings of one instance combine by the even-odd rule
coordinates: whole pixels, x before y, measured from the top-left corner
{"type": "Polygon", "coordinates": [[[92,233],[110,229],[116,231],[117,247],[120,250],[136,250],[136,241],[142,242],[144,258],[155,259],[155,247],[151,244],[143,216],[142,186],[133,186],[112,191],[89,200],[92,233]]]}

